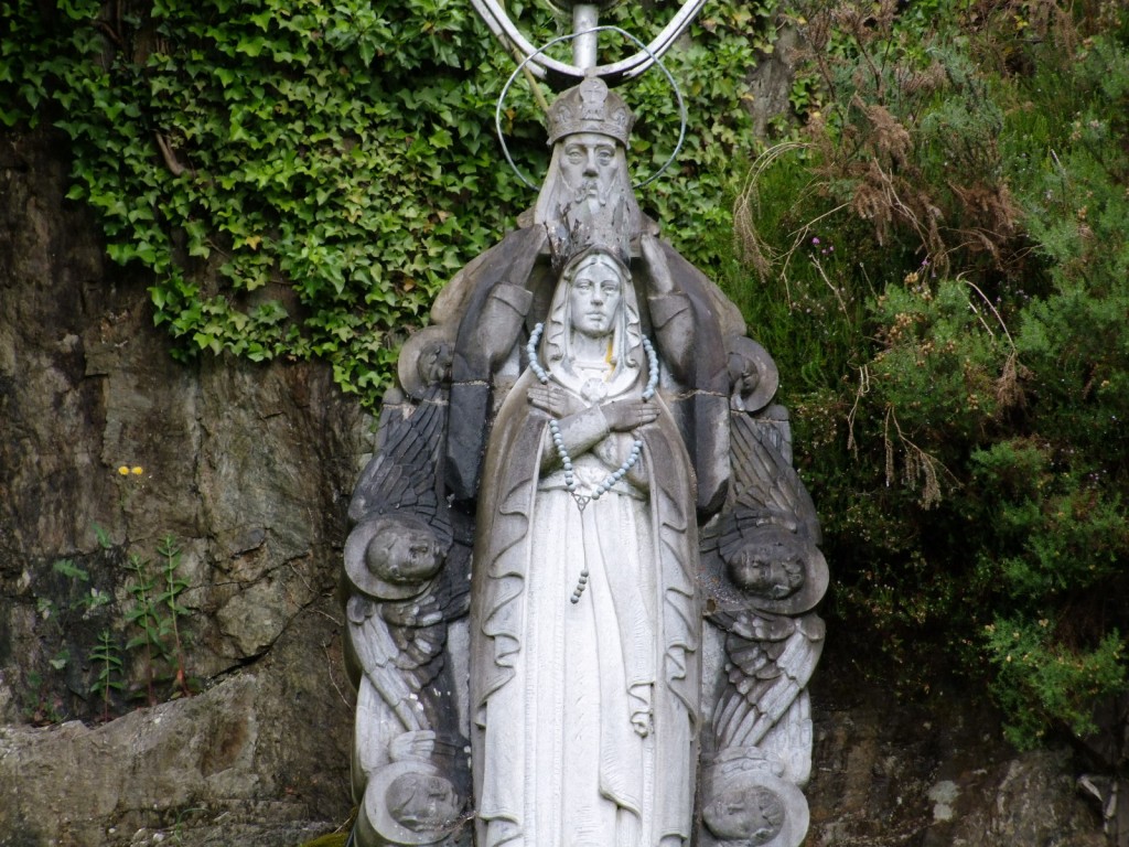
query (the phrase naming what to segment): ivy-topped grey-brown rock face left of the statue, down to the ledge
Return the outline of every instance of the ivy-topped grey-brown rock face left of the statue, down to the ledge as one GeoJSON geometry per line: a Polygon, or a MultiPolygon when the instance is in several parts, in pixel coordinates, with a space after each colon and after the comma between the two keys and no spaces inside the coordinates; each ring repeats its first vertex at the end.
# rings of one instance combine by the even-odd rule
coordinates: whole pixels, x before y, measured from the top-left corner
{"type": "Polygon", "coordinates": [[[299,844],[350,814],[334,591],[361,416],[323,366],[173,361],[67,168],[53,137],[0,139],[0,845],[299,844]],[[88,656],[125,627],[126,552],[166,534],[203,690],[102,724],[88,656]]]}

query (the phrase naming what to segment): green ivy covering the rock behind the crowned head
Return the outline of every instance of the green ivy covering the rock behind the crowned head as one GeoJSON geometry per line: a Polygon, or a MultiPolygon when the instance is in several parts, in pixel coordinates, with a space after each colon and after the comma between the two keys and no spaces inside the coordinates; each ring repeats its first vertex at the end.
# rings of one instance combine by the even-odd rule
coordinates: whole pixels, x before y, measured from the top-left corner
{"type": "MultiPolygon", "coordinates": [[[[709,265],[728,242],[726,163],[752,143],[742,107],[772,5],[719,3],[666,59],[692,125],[642,198],[709,265]],[[761,21],[758,24],[758,21],[761,21]]],[[[108,255],[151,273],[174,355],[323,358],[376,402],[396,342],[532,197],[502,164],[493,106],[513,60],[465,0],[3,0],[0,121],[72,145],[70,197],[97,210],[108,255]]],[[[510,14],[546,41],[546,11],[510,14]]],[[[647,37],[663,12],[622,7],[647,37]]],[[[628,97],[633,166],[666,158],[676,108],[662,75],[628,97]]],[[[546,150],[534,97],[507,108],[528,173],[546,150]]]]}

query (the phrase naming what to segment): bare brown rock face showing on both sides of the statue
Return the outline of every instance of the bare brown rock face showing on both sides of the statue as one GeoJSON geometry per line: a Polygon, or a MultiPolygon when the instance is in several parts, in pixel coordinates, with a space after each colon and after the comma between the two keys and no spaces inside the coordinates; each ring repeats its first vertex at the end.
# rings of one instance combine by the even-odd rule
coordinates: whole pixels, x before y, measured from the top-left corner
{"type": "MultiPolygon", "coordinates": [[[[0,847],[297,847],[351,810],[334,591],[364,421],[326,368],[173,363],[65,163],[0,139],[0,847]],[[148,707],[126,566],[166,534],[200,691],[158,679],[148,707]],[[103,630],[140,695],[108,709],[103,630]]],[[[809,847],[1104,844],[1068,753],[1015,754],[956,689],[899,704],[828,643],[809,847]]]]}

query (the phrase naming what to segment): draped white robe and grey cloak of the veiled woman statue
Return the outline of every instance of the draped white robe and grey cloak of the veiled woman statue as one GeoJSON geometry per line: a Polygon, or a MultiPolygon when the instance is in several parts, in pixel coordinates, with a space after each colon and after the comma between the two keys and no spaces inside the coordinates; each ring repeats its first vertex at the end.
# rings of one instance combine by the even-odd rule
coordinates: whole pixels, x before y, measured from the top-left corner
{"type": "MultiPolygon", "coordinates": [[[[622,394],[638,399],[646,374],[622,394]]],[[[526,373],[490,436],[479,497],[471,637],[479,847],[689,844],[701,614],[694,475],[659,398],[629,475],[581,512],[553,466],[526,373]],[[569,602],[581,567],[589,582],[569,602]],[[631,724],[653,713],[646,737],[631,724]],[[495,822],[495,826],[491,826],[495,822]]],[[[599,427],[589,409],[581,426],[599,427]]],[[[605,425],[606,426],[606,425],[605,425]]],[[[632,436],[574,456],[602,479],[632,436]],[[602,456],[602,459],[601,459],[602,456]]]]}

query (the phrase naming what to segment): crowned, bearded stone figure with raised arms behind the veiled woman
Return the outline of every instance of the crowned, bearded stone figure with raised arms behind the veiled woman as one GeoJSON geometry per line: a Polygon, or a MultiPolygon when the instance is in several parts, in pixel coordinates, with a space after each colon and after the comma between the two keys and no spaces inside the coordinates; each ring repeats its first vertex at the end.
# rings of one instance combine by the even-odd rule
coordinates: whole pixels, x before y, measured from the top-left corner
{"type": "Polygon", "coordinates": [[[553,155],[533,210],[519,228],[479,256],[440,292],[431,316],[452,342],[450,431],[447,481],[458,499],[473,499],[485,446],[483,421],[520,374],[525,340],[549,307],[557,272],[567,259],[593,242],[615,244],[631,264],[638,291],[653,288],[656,274],[671,278],[668,302],[650,322],[662,325],[675,309],[703,337],[715,340],[697,351],[672,384],[672,412],[683,430],[698,474],[698,508],[716,512],[728,477],[728,369],[720,339],[743,335],[737,308],[698,269],[668,244],[644,236],[658,227],[639,210],[627,171],[625,149],[632,119],[625,103],[602,80],[589,78],[560,95],[549,116],[553,155]]]}

